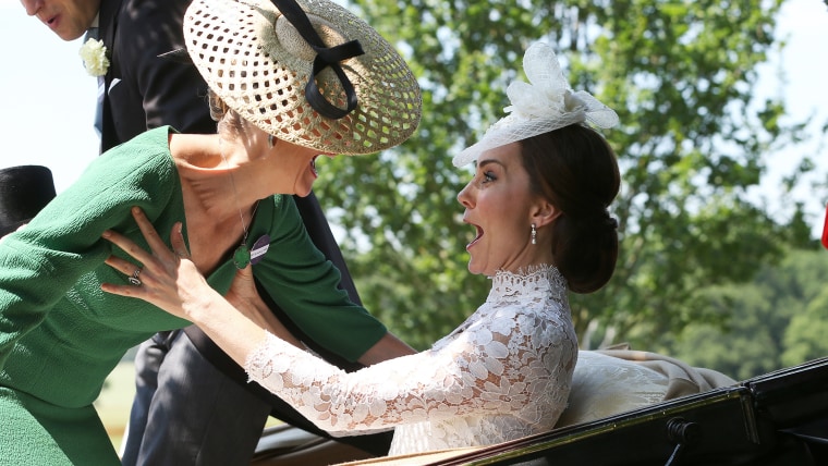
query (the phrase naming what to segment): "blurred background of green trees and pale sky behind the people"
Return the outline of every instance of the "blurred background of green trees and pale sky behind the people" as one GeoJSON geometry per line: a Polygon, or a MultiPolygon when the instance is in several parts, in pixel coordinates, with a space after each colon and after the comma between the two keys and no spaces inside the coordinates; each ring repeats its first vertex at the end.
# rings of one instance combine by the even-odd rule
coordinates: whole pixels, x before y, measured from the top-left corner
{"type": "MultiPolygon", "coordinates": [[[[343,2],[345,3],[345,2],[343,2]]],[[[572,295],[583,348],[628,343],[746,379],[828,354],[828,5],[821,0],[360,0],[410,61],[424,118],[402,146],[319,165],[316,193],[366,307],[418,348],[483,302],[451,157],[558,50],[574,89],[617,110],[604,134],[623,187],[611,282],[572,295]]],[[[96,79],[17,1],[0,3],[3,165],[44,164],[64,189],[97,157],[96,79]]],[[[120,442],[129,355],[98,406],[120,442]]]]}

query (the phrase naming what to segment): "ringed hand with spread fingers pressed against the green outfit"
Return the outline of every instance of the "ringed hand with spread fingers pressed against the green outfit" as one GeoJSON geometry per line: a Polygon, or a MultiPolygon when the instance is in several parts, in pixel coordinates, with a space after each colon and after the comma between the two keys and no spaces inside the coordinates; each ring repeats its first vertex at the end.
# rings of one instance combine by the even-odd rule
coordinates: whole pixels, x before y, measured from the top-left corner
{"type": "Polygon", "coordinates": [[[108,266],[137,281],[136,284],[131,285],[102,283],[101,290],[143,299],[174,316],[192,321],[193,311],[208,306],[210,297],[217,293],[198,272],[195,263],[190,260],[190,253],[181,232],[181,222],[175,223],[170,233],[171,250],[139,208],[133,207],[132,216],[147,241],[151,254],[118,232],[104,232],[105,240],[123,249],[143,267],[110,256],[106,260],[108,266]]]}

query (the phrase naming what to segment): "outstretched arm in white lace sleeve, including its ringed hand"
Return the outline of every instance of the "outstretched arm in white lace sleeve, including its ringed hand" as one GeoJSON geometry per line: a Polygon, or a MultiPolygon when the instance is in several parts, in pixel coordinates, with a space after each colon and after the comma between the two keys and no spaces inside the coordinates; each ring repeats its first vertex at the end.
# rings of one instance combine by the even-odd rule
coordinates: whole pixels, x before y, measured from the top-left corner
{"type": "MultiPolygon", "coordinates": [[[[562,342],[561,326],[544,321],[543,316],[507,309],[435,350],[346,373],[269,335],[238,312],[209,289],[190,260],[167,249],[149,230],[151,225],[139,216],[136,220],[153,247],[151,255],[115,233],[108,238],[145,265],[144,285],[104,285],[104,290],[148,301],[192,320],[244,365],[252,380],[322,429],[357,433],[472,414],[516,416],[526,405],[537,408],[523,420],[546,428],[565,405],[567,371],[574,367],[576,347],[571,341],[562,342]]],[[[173,248],[182,255],[176,242],[173,248]]],[[[118,262],[112,266],[119,267],[118,262]]]]}

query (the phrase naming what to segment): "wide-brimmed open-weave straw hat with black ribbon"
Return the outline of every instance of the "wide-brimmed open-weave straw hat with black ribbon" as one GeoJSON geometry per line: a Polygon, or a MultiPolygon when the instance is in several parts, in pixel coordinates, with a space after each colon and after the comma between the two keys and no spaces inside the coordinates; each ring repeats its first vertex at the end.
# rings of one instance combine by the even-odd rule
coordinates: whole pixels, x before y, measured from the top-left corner
{"type": "Polygon", "coordinates": [[[419,86],[405,61],[328,0],[194,0],[184,39],[210,89],[279,139],[370,154],[419,123],[419,86]]]}

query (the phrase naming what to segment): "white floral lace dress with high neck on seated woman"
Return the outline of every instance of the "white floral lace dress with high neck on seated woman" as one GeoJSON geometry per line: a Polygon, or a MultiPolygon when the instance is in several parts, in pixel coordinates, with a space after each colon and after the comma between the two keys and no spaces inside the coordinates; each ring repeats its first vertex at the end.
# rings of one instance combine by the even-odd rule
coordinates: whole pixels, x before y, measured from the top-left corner
{"type": "Polygon", "coordinates": [[[268,334],[245,370],[332,434],[397,428],[394,455],[551,429],[576,358],[565,281],[541,266],[498,272],[486,303],[429,351],[346,373],[268,334]]]}

